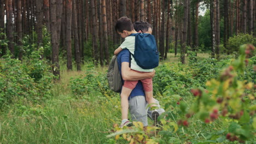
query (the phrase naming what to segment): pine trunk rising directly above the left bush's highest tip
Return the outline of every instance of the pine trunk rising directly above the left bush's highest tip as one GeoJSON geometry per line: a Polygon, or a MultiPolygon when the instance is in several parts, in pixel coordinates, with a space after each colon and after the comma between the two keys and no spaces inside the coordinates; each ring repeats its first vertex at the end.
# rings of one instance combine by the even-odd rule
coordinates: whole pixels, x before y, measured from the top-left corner
{"type": "Polygon", "coordinates": [[[36,0],[36,33],[37,33],[37,44],[38,46],[43,43],[43,2],[41,0],[36,0]]]}

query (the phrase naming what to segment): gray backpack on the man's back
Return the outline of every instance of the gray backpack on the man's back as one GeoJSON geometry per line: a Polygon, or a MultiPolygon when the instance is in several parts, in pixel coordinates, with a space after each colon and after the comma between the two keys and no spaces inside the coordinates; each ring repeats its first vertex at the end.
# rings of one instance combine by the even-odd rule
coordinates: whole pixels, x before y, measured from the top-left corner
{"type": "Polygon", "coordinates": [[[114,92],[121,92],[121,87],[123,86],[121,75],[119,73],[118,63],[117,63],[117,56],[113,56],[109,66],[108,66],[108,86],[114,92]]]}

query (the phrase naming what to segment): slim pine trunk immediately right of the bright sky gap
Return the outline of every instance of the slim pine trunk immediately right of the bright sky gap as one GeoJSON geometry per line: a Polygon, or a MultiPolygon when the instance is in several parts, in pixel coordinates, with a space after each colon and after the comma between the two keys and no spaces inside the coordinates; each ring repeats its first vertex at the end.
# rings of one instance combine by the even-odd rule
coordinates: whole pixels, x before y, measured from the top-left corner
{"type": "Polygon", "coordinates": [[[216,30],[215,30],[215,0],[211,0],[211,8],[210,8],[210,17],[211,17],[211,32],[212,32],[212,53],[211,56],[212,58],[215,58],[215,48],[216,48],[216,30]]]}

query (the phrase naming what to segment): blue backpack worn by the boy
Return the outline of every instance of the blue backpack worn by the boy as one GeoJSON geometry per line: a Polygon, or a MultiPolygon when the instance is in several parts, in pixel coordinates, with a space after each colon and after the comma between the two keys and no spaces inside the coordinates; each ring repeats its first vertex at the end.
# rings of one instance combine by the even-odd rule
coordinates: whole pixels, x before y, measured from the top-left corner
{"type": "Polygon", "coordinates": [[[135,36],[134,55],[136,63],[143,69],[153,69],[158,67],[159,52],[156,46],[155,37],[148,33],[132,33],[135,36]]]}

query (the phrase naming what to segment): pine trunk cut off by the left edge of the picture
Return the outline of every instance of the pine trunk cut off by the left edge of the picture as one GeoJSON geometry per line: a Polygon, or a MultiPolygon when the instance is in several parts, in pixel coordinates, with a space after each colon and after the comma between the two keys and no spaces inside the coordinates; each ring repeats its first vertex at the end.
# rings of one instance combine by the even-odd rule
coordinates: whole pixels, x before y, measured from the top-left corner
{"type": "MultiPolygon", "coordinates": [[[[5,33],[4,31],[4,1],[0,1],[0,33],[5,33]]],[[[0,36],[0,40],[4,39],[0,36]]],[[[5,55],[5,46],[0,45],[0,57],[5,55]]]]}

